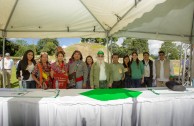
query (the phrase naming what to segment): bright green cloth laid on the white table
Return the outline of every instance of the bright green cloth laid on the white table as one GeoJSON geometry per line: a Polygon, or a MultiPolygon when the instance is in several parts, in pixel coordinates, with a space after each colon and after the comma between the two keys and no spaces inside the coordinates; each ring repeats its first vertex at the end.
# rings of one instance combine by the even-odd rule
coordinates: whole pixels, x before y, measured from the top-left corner
{"type": "Polygon", "coordinates": [[[100,101],[109,101],[109,100],[118,100],[125,98],[136,98],[142,92],[132,91],[127,89],[94,89],[91,91],[86,91],[80,93],[81,95],[100,100],[100,101]]]}

